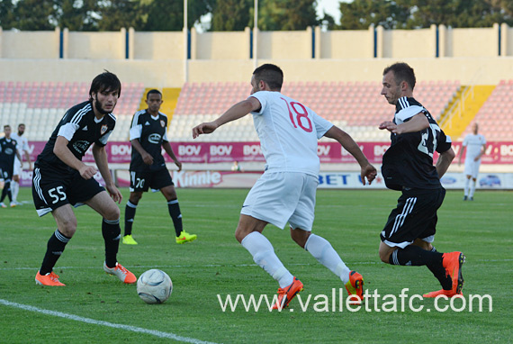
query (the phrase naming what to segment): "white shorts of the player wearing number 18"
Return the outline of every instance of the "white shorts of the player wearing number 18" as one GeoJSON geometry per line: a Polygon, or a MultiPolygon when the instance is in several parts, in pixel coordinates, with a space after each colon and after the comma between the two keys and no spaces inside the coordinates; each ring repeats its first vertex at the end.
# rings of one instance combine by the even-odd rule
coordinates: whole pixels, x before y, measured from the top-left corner
{"type": "Polygon", "coordinates": [[[319,178],[298,172],[267,171],[247,194],[241,214],[284,229],[311,231],[319,178]]]}

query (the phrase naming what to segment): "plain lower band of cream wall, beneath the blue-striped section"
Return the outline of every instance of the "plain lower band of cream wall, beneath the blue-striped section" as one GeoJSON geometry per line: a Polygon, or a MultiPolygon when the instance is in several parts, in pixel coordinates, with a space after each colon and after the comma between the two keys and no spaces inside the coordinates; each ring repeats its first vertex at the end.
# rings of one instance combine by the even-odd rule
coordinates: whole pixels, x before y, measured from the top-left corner
{"type": "MultiPolygon", "coordinates": [[[[377,81],[383,68],[398,59],[259,59],[258,65],[275,63],[287,81],[377,81]]],[[[415,68],[418,80],[460,80],[462,85],[497,85],[513,78],[513,58],[401,59],[415,68]]],[[[177,59],[0,59],[3,81],[90,82],[107,69],[122,82],[147,87],[181,87],[184,61],[177,59]]],[[[247,82],[253,60],[189,60],[188,82],[247,82]]]]}

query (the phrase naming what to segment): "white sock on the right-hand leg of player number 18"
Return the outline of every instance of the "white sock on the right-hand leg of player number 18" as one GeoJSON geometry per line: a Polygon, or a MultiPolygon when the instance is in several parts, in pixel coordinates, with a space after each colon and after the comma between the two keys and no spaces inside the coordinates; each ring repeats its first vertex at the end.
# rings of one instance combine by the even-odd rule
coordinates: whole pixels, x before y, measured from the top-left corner
{"type": "Polygon", "coordinates": [[[325,267],[328,267],[332,273],[340,277],[344,284],[349,282],[349,268],[344,264],[338,253],[328,240],[319,235],[310,234],[304,249],[309,251],[311,255],[317,259],[325,267]]]}

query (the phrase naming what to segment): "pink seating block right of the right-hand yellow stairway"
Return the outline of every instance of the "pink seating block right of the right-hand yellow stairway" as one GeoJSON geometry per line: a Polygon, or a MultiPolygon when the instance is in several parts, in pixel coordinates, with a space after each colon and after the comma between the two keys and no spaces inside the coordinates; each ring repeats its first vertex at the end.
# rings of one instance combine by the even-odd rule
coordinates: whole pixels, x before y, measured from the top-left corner
{"type": "Polygon", "coordinates": [[[479,133],[487,140],[511,140],[513,128],[513,80],[500,80],[500,83],[486,103],[464,130],[461,140],[472,132],[473,122],[479,123],[479,133]]]}

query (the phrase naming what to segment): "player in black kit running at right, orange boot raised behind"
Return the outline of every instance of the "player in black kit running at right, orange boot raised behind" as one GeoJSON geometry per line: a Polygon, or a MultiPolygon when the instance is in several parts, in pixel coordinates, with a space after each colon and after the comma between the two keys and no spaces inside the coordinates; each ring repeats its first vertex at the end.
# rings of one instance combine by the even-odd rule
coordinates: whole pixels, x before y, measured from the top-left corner
{"type": "Polygon", "coordinates": [[[392,145],[383,155],[385,184],[402,192],[383,231],[379,254],[384,263],[427,266],[442,289],[424,297],[461,294],[464,284],[462,252],[440,253],[431,243],[437,226],[437,209],[446,190],[440,178],[455,158],[451,139],[431,114],[413,98],[415,73],[406,63],[395,63],[383,71],[382,95],[395,105],[392,122],[381,130],[391,131],[392,145]],[[440,156],[433,166],[433,154],[440,156]]]}

